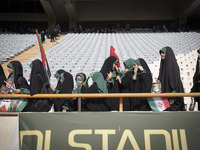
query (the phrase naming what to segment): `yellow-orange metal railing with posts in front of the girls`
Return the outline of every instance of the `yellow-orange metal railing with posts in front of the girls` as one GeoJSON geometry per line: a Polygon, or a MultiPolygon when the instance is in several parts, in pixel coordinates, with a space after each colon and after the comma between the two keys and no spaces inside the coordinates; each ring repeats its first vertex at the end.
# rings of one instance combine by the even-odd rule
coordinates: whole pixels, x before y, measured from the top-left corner
{"type": "MultiPolygon", "coordinates": [[[[80,98],[120,98],[119,111],[123,111],[123,97],[200,97],[200,93],[91,93],[91,94],[0,94],[1,98],[79,98],[78,110],[81,111],[80,98]]],[[[5,113],[6,114],[6,113],[5,113]]]]}

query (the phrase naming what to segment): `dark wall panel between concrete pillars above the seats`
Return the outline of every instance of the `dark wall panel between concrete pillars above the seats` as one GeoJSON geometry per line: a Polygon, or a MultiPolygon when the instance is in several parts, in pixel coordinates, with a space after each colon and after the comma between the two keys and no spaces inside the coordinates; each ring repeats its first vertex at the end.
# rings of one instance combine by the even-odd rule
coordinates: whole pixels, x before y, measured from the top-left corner
{"type": "Polygon", "coordinates": [[[168,0],[84,1],[78,3],[78,21],[173,20],[174,3],[168,0]]]}

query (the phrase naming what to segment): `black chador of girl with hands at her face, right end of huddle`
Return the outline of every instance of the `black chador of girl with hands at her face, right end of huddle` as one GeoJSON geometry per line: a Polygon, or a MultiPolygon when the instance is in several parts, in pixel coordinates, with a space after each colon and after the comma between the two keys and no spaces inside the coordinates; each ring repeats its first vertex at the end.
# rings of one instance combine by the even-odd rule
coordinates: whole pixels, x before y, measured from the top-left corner
{"type": "MultiPolygon", "coordinates": [[[[135,60],[134,67],[138,69],[134,71],[134,74],[137,75],[135,76],[135,78],[133,76],[133,82],[132,82],[133,85],[131,93],[151,93],[152,75],[147,63],[145,62],[144,59],[139,58],[135,60]]],[[[150,111],[151,108],[145,97],[140,97],[140,98],[135,97],[131,98],[131,110],[150,111]]]]}

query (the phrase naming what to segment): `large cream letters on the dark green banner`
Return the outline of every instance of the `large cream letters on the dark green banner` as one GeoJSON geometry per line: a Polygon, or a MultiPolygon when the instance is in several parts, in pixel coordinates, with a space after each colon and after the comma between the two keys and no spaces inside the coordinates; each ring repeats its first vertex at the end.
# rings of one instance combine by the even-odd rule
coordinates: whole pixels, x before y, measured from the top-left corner
{"type": "MultiPolygon", "coordinates": [[[[185,129],[180,129],[180,139],[178,138],[178,130],[172,129],[171,132],[168,132],[164,129],[146,129],[144,130],[144,143],[145,143],[145,150],[151,150],[151,135],[163,135],[165,137],[165,144],[166,150],[188,150],[187,140],[186,140],[186,133],[185,129]],[[180,145],[179,145],[180,140],[180,145]],[[173,142],[173,147],[172,147],[173,142]]],[[[115,129],[77,129],[72,130],[68,135],[68,144],[72,148],[83,148],[85,150],[92,150],[95,149],[88,143],[79,143],[75,141],[76,136],[84,136],[84,135],[91,135],[91,136],[102,136],[102,150],[108,150],[109,145],[109,135],[115,135],[115,129]]],[[[51,145],[51,130],[46,130],[45,135],[42,134],[39,130],[26,130],[20,131],[20,144],[23,146],[23,137],[24,136],[37,136],[37,150],[43,149],[43,140],[44,140],[44,150],[50,150],[51,145]]],[[[135,139],[134,134],[131,130],[126,129],[123,131],[119,143],[117,144],[117,150],[123,150],[127,140],[131,143],[134,150],[140,150],[137,143],[137,139],[135,139]]]]}

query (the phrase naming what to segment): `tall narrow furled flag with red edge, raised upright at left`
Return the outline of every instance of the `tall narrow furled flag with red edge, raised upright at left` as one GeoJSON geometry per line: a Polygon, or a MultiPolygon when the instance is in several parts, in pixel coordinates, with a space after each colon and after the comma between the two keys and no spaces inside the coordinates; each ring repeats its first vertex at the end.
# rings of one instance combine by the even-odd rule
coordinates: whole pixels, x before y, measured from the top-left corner
{"type": "Polygon", "coordinates": [[[43,45],[42,45],[42,41],[41,41],[41,38],[40,38],[40,35],[39,35],[37,29],[35,30],[35,32],[36,32],[38,43],[39,43],[39,46],[40,46],[42,64],[43,64],[43,67],[45,68],[45,70],[47,72],[48,78],[50,78],[51,77],[51,71],[50,71],[50,68],[49,68],[49,64],[47,62],[47,57],[46,57],[46,54],[45,54],[45,51],[44,51],[44,48],[43,48],[43,45]]]}

